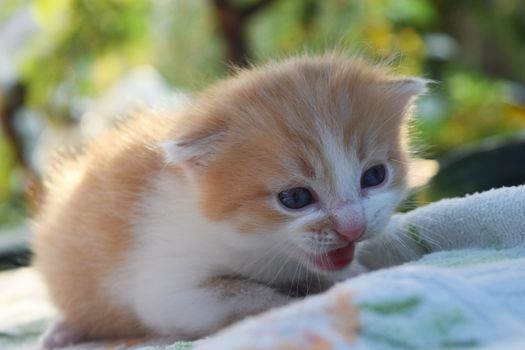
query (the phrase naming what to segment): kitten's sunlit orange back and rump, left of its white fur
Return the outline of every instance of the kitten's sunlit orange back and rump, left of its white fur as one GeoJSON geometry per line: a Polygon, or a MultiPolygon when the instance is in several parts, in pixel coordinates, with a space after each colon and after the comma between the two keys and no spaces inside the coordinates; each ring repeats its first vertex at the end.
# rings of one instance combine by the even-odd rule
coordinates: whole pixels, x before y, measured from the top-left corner
{"type": "Polygon", "coordinates": [[[52,300],[87,337],[144,333],[129,311],[107,302],[104,283],[130,244],[134,205],[162,167],[154,146],[169,123],[155,114],[128,120],[62,160],[47,181],[35,220],[34,265],[52,300]]]}

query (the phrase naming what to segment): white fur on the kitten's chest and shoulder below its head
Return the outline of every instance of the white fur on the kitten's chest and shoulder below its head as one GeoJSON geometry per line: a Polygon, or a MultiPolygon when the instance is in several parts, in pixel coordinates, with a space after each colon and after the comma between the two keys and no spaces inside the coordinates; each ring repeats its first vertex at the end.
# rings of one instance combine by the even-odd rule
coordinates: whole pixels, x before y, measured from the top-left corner
{"type": "MultiPolygon", "coordinates": [[[[226,311],[230,306],[206,303],[200,310],[198,302],[199,293],[208,297],[202,287],[215,276],[241,276],[280,285],[306,279],[309,274],[280,253],[278,240],[240,235],[229,225],[209,222],[200,214],[189,185],[172,175],[161,173],[153,179],[151,191],[137,210],[141,215],[132,226],[133,248],[117,273],[108,278],[106,287],[115,302],[133,309],[161,334],[199,336],[200,328],[214,327],[217,315],[223,313],[220,309],[226,311]],[[210,308],[213,304],[217,310],[210,308]]],[[[238,303],[239,309],[247,306],[242,299],[238,303]]]]}

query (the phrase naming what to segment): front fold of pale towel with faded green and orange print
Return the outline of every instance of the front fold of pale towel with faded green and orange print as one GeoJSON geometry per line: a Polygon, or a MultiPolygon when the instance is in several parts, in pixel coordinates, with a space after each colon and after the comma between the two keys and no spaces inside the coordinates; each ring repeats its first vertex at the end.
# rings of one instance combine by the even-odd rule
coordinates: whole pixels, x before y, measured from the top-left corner
{"type": "Polygon", "coordinates": [[[525,349],[525,245],[434,253],[364,274],[245,320],[196,349],[458,349],[508,342],[525,349]]]}

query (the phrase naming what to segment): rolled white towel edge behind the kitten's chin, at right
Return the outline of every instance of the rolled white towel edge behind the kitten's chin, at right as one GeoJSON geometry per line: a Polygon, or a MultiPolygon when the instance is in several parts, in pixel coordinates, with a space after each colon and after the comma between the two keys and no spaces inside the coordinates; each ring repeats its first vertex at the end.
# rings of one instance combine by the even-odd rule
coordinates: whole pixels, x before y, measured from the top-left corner
{"type": "Polygon", "coordinates": [[[394,215],[385,234],[363,243],[356,265],[375,270],[436,251],[504,249],[523,242],[525,185],[504,187],[394,215]]]}

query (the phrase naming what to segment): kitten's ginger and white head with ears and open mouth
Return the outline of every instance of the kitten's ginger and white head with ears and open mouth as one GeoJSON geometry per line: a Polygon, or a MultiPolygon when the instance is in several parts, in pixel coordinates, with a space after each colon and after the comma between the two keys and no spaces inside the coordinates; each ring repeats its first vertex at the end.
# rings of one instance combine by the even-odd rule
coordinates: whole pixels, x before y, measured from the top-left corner
{"type": "Polygon", "coordinates": [[[243,71],[195,102],[167,160],[209,220],[338,271],[402,199],[407,115],[424,85],[336,55],[243,71]]]}

